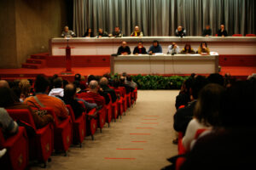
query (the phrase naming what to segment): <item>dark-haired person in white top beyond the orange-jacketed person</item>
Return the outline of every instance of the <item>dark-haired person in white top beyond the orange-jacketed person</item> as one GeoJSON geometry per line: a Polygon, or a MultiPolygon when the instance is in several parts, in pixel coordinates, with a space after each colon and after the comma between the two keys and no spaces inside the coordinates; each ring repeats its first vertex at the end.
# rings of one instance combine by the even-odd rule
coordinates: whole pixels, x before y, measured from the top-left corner
{"type": "Polygon", "coordinates": [[[62,99],[64,96],[63,81],[61,77],[55,78],[53,82],[54,88],[49,92],[49,96],[62,99]]]}

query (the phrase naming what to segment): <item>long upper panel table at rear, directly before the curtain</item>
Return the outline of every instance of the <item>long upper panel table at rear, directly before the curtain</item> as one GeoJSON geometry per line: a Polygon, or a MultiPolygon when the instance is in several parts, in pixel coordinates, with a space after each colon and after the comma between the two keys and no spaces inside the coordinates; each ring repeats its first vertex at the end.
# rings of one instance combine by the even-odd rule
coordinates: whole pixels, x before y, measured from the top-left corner
{"type": "Polygon", "coordinates": [[[256,54],[256,37],[75,37],[71,39],[51,38],[49,40],[49,53],[51,55],[65,55],[63,47],[72,47],[72,55],[106,55],[116,54],[121,42],[126,41],[131,48],[131,53],[138,41],[143,41],[148,50],[154,40],[158,40],[166,54],[172,42],[177,42],[180,48],[185,43],[190,43],[192,48],[197,48],[200,42],[207,42],[211,51],[218,54],[256,54]]]}

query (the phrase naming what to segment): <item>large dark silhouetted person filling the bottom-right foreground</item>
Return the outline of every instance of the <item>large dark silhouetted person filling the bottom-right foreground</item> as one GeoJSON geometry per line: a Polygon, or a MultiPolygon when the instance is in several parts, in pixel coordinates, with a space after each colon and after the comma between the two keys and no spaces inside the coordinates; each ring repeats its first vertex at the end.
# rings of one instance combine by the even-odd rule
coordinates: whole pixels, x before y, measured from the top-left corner
{"type": "Polygon", "coordinates": [[[197,139],[181,167],[185,169],[251,169],[255,166],[255,81],[227,88],[220,127],[197,139]]]}

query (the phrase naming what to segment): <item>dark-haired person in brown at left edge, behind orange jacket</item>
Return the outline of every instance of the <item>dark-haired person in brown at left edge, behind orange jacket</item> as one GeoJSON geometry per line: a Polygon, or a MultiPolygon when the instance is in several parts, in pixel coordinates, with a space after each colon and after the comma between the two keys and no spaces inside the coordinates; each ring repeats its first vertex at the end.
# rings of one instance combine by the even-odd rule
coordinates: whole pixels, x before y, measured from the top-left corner
{"type": "Polygon", "coordinates": [[[27,109],[32,114],[32,118],[35,122],[37,128],[46,126],[49,122],[53,122],[53,117],[51,115],[38,116],[32,111],[31,107],[20,103],[19,99],[15,96],[10,88],[0,88],[0,107],[5,109],[27,109]],[[4,96],[4,97],[3,97],[4,96]]]}

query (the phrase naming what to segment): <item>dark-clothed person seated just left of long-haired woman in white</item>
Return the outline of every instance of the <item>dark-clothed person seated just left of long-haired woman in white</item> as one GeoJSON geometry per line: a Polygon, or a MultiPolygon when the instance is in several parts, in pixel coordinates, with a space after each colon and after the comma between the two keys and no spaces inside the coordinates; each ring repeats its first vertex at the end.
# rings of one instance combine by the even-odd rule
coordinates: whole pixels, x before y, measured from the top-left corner
{"type": "Polygon", "coordinates": [[[195,104],[198,98],[198,94],[200,93],[201,89],[207,85],[207,78],[202,76],[195,77],[195,81],[192,84],[190,91],[190,100],[188,106],[178,109],[177,112],[174,114],[174,124],[173,127],[177,132],[182,132],[185,134],[186,129],[188,127],[189,122],[193,118],[193,111],[195,109],[195,104]]]}

